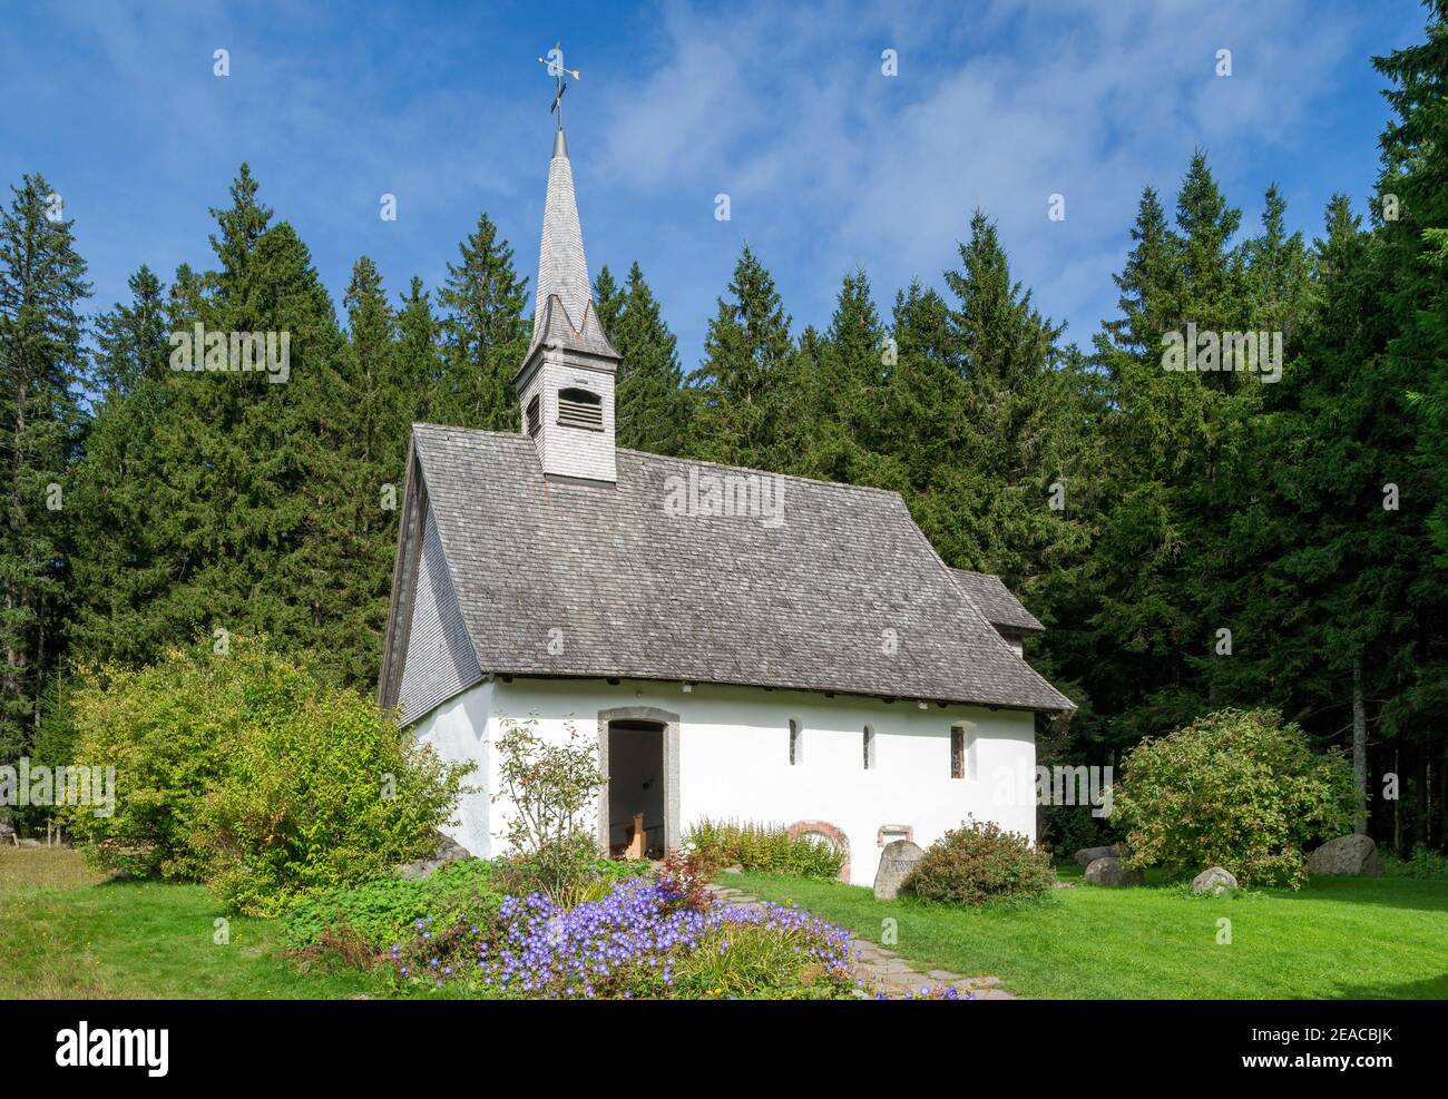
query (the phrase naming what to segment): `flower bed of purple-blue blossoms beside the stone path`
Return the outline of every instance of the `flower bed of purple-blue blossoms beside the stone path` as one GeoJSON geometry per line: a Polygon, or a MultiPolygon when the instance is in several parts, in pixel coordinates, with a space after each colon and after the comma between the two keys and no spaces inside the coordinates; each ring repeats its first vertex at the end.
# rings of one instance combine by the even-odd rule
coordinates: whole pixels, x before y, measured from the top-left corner
{"type": "Polygon", "coordinates": [[[670,883],[637,879],[563,909],[544,893],[510,896],[501,932],[465,919],[392,950],[403,980],[463,979],[484,993],[588,998],[849,998],[849,932],[778,905],[688,908],[670,883]]]}

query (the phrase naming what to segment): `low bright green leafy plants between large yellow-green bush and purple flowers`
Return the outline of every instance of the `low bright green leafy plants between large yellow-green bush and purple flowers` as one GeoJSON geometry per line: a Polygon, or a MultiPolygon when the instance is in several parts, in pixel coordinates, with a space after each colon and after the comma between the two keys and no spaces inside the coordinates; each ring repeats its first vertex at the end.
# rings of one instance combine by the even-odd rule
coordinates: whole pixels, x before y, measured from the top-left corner
{"type": "Polygon", "coordinates": [[[418,919],[450,925],[468,915],[491,921],[502,902],[494,883],[495,867],[482,859],[459,859],[420,880],[375,877],[350,886],[316,890],[282,917],[282,941],[290,950],[326,944],[329,932],[348,932],[374,954],[414,935],[418,919]]]}

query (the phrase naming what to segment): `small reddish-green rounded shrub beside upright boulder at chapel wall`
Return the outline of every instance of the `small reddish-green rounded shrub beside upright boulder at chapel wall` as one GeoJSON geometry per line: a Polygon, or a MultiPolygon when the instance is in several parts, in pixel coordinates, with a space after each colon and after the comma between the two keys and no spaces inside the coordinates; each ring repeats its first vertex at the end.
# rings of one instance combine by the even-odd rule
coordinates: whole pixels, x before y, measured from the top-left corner
{"type": "Polygon", "coordinates": [[[970,821],[941,835],[915,863],[905,889],[928,904],[1024,901],[1056,880],[1050,856],[995,821],[970,821]]]}

